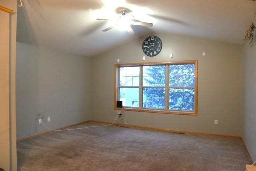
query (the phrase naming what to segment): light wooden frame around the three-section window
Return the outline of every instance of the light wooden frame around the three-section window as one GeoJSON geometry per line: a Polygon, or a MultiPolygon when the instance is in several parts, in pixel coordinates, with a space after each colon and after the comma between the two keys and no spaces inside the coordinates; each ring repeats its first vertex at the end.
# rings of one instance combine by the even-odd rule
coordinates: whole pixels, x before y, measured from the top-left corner
{"type": "Polygon", "coordinates": [[[138,112],[149,112],[149,113],[167,113],[167,114],[178,114],[178,115],[197,115],[198,114],[198,60],[186,60],[186,61],[172,61],[172,62],[145,62],[145,63],[132,63],[132,64],[115,64],[114,66],[114,109],[124,111],[138,111],[138,112]],[[169,93],[165,93],[165,109],[145,109],[142,108],[142,70],[140,67],[140,86],[139,86],[139,107],[116,107],[117,100],[119,99],[119,68],[120,67],[131,67],[131,66],[154,66],[154,65],[165,65],[166,67],[166,86],[165,92],[169,92],[169,66],[172,64],[195,64],[195,108],[194,111],[182,111],[182,110],[169,110],[169,93]]]}

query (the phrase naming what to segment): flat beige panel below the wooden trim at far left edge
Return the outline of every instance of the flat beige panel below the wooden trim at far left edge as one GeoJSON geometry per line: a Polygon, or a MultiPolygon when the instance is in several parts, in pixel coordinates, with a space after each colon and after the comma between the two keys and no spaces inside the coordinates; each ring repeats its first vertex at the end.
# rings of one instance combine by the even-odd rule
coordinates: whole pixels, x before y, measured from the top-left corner
{"type": "Polygon", "coordinates": [[[0,10],[0,167],[10,169],[9,132],[9,18],[0,10]]]}

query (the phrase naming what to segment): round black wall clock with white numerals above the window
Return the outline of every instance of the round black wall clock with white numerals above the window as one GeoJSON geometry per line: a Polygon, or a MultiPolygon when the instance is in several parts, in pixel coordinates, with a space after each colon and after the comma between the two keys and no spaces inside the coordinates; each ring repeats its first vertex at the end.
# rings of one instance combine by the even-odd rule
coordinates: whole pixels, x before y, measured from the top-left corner
{"type": "Polygon", "coordinates": [[[142,44],[142,50],[147,56],[156,56],[162,50],[162,41],[157,36],[148,36],[142,44]]]}

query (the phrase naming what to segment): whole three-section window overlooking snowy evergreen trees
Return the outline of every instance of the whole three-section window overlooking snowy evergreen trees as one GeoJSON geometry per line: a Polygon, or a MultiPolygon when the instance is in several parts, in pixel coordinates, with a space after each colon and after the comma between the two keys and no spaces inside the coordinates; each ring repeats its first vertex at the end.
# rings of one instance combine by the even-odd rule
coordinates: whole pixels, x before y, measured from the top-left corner
{"type": "Polygon", "coordinates": [[[197,115],[197,60],[115,65],[123,110],[197,115]]]}

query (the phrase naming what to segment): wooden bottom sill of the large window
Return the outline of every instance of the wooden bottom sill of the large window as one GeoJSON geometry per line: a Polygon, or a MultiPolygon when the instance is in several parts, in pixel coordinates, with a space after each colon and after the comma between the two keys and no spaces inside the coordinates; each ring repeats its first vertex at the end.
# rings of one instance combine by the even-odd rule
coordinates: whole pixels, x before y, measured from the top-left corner
{"type": "Polygon", "coordinates": [[[165,113],[165,114],[174,114],[174,115],[197,115],[196,112],[190,111],[165,111],[165,110],[154,110],[154,109],[136,109],[136,108],[120,108],[115,107],[115,110],[123,110],[123,111],[138,111],[138,112],[148,112],[148,113],[165,113]]]}

